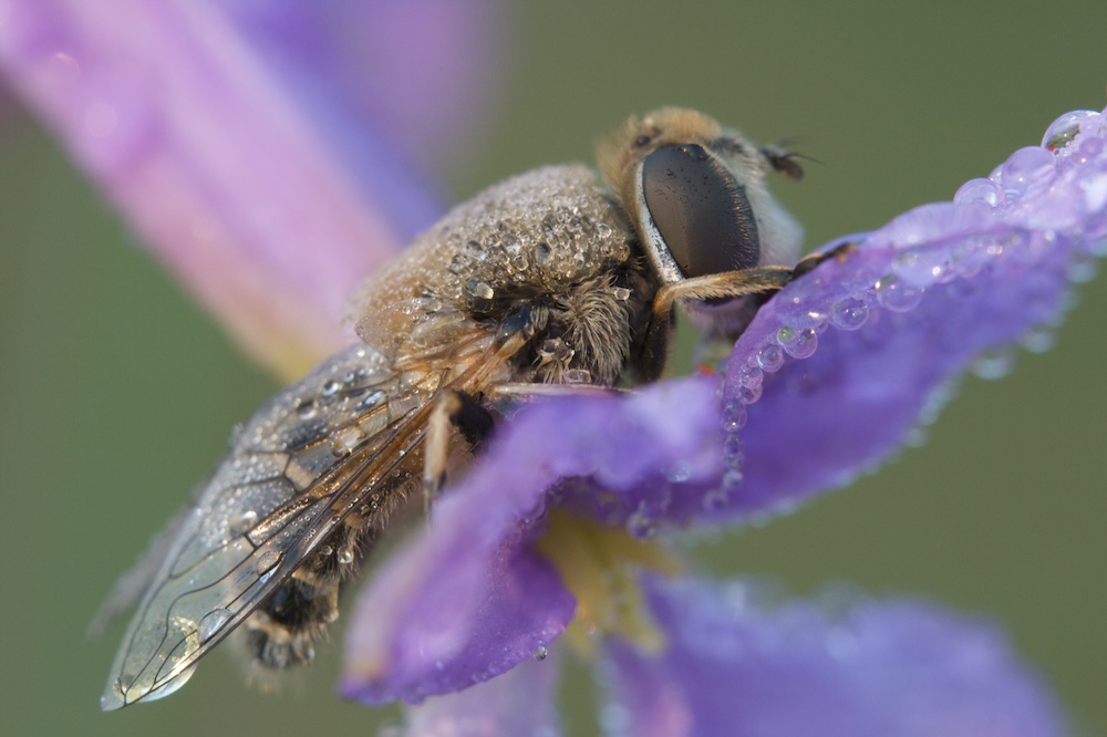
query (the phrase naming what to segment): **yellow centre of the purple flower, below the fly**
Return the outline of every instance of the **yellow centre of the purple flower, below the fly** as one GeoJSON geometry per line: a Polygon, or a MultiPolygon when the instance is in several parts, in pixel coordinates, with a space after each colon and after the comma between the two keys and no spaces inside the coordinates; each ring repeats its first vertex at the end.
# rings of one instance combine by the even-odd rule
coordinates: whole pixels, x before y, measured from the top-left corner
{"type": "Polygon", "coordinates": [[[645,605],[638,575],[643,569],[669,575],[681,571],[676,558],[656,541],[643,541],[622,528],[603,527],[563,511],[550,515],[538,550],[577,596],[570,646],[591,655],[594,633],[618,635],[644,652],[665,645],[645,605]]]}

